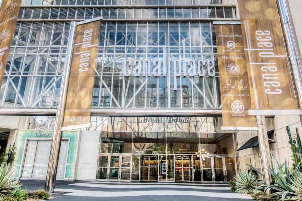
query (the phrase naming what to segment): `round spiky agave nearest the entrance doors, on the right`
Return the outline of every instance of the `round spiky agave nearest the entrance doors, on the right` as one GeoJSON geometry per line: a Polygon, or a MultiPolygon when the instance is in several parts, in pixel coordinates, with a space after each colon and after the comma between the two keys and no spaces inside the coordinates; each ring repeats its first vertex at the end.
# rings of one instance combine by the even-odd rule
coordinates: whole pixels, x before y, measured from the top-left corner
{"type": "Polygon", "coordinates": [[[260,185],[256,176],[252,173],[240,172],[234,177],[237,189],[235,192],[241,194],[256,194],[261,192],[257,189],[260,185]]]}

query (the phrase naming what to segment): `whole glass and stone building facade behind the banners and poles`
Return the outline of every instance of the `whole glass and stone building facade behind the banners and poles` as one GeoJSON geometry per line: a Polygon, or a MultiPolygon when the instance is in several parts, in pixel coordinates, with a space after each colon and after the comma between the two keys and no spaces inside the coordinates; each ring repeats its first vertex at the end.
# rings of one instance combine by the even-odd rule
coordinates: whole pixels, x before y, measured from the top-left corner
{"type": "MultiPolygon", "coordinates": [[[[46,178],[70,22],[100,16],[92,127],[63,132],[57,179],[226,182],[246,164],[263,168],[257,147],[237,151],[257,132],[221,131],[213,22],[238,21],[236,2],[22,4],[0,88],[0,109],[25,114],[0,117],[2,150],[17,147],[16,177],[46,178]],[[203,70],[188,76],[193,63],[203,70]]],[[[299,117],[267,118],[278,158],[290,153],[286,125],[301,129],[299,117]]]]}

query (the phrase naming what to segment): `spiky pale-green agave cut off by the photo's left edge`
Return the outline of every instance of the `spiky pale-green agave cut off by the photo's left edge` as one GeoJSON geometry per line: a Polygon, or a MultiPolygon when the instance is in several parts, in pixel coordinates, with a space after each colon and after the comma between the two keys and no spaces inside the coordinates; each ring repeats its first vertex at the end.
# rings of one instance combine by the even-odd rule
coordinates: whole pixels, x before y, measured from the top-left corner
{"type": "Polygon", "coordinates": [[[7,165],[0,165],[0,200],[3,199],[12,190],[18,187],[18,181],[13,177],[13,171],[9,171],[7,165]]]}

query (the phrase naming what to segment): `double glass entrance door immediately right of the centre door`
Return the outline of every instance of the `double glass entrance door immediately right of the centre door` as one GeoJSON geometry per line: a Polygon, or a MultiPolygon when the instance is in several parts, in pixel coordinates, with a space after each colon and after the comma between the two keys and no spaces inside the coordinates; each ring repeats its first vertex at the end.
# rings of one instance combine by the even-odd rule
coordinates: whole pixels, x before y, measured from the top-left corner
{"type": "Polygon", "coordinates": [[[175,156],[175,181],[192,180],[192,156],[175,156]]]}

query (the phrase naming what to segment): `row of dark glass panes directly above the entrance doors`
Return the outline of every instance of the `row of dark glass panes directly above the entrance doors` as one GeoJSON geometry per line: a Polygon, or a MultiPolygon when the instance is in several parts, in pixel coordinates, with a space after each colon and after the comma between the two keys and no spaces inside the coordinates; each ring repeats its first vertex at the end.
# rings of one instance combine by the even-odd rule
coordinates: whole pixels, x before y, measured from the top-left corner
{"type": "MultiPolygon", "coordinates": [[[[145,126],[143,125],[145,123],[140,124],[141,128],[145,126]]],[[[201,154],[234,157],[236,150],[232,133],[103,131],[100,153],[201,154]]]]}

